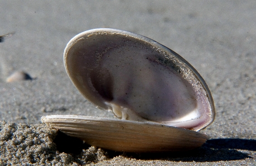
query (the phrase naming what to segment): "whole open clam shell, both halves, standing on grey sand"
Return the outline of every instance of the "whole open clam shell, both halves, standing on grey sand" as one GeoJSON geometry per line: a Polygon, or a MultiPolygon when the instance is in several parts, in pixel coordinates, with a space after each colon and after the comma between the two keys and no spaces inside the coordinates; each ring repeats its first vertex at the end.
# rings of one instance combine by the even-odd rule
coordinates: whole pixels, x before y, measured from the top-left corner
{"type": "Polygon", "coordinates": [[[210,90],[171,49],[131,32],[92,29],[67,43],[64,64],[86,99],[122,120],[53,115],[42,117],[42,122],[118,151],[183,150],[206,141],[205,135],[192,130],[214,120],[210,90]]]}

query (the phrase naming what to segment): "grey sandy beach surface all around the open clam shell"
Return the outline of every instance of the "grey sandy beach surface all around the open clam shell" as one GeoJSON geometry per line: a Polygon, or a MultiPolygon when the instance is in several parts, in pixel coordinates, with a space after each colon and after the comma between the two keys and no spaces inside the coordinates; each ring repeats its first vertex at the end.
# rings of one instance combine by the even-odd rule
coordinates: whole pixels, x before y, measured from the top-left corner
{"type": "Polygon", "coordinates": [[[0,165],[256,165],[255,1],[0,1],[0,165]],[[41,124],[50,114],[113,117],[68,78],[62,54],[76,34],[117,28],[171,48],[209,85],[210,139],[186,153],[119,153],[41,124]],[[13,72],[31,80],[7,83],[13,72]]]}

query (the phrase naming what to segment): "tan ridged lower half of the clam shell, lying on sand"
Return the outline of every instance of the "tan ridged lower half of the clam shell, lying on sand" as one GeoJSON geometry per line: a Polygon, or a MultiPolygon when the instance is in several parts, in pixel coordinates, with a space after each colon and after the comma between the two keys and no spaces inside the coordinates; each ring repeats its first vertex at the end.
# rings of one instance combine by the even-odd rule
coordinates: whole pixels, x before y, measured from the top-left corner
{"type": "Polygon", "coordinates": [[[85,143],[120,152],[165,152],[200,147],[207,135],[157,123],[79,115],[49,115],[42,122],[85,143]]]}

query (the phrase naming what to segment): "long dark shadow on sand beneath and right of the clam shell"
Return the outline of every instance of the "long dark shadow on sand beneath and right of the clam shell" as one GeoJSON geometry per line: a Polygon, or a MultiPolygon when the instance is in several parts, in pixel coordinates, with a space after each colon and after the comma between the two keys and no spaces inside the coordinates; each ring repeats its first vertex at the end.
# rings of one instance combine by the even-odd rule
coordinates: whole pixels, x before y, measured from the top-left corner
{"type": "Polygon", "coordinates": [[[210,139],[202,147],[187,152],[123,153],[124,157],[144,160],[169,160],[177,162],[218,162],[252,158],[236,149],[256,151],[254,139],[210,139]]]}

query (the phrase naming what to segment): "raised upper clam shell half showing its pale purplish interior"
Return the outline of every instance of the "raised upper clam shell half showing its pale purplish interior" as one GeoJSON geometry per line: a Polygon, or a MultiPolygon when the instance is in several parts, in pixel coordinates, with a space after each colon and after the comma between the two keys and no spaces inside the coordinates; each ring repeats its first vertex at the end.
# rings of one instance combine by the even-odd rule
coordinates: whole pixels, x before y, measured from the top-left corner
{"type": "Polygon", "coordinates": [[[200,130],[214,120],[214,102],[200,74],[152,39],[93,29],[67,44],[71,81],[97,107],[122,119],[200,130]]]}

